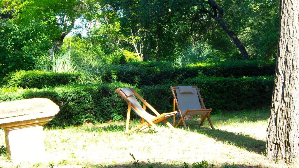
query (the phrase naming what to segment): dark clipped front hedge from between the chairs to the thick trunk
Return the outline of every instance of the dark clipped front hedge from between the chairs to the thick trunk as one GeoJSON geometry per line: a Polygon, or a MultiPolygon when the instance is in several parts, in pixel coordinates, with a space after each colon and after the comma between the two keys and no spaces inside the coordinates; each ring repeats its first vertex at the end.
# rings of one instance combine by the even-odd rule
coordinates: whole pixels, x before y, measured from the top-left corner
{"type": "Polygon", "coordinates": [[[274,77],[198,77],[181,84],[142,86],[144,99],[158,112],[172,111],[170,86],[193,85],[199,88],[206,108],[218,110],[260,109],[271,104],[274,77]]]}

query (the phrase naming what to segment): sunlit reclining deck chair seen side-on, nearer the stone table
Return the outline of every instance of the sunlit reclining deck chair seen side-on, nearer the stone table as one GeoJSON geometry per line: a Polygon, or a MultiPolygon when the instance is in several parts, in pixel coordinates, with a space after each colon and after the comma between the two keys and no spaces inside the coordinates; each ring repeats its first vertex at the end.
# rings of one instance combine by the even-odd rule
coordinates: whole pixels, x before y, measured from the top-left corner
{"type": "Polygon", "coordinates": [[[175,130],[174,127],[165,119],[168,117],[174,116],[177,113],[177,111],[159,114],[151,105],[149,105],[149,103],[147,103],[146,100],[144,100],[132,88],[120,88],[120,89],[115,89],[115,91],[117,91],[117,93],[121,97],[123,97],[123,99],[126,100],[126,102],[128,103],[128,112],[127,112],[127,118],[126,118],[125,133],[131,133],[137,129],[139,129],[139,131],[141,131],[150,126],[155,128],[156,130],[159,130],[159,128],[155,124],[160,121],[163,121],[173,131],[175,130]],[[139,104],[135,95],[143,102],[143,107],[141,107],[141,105],[139,104]],[[150,110],[152,110],[152,112],[154,112],[157,116],[153,116],[153,115],[149,114],[148,112],[146,112],[145,111],[146,106],[150,110]],[[139,117],[141,117],[141,124],[136,126],[135,128],[132,128],[131,130],[129,130],[129,120],[130,120],[131,108],[139,117]]]}

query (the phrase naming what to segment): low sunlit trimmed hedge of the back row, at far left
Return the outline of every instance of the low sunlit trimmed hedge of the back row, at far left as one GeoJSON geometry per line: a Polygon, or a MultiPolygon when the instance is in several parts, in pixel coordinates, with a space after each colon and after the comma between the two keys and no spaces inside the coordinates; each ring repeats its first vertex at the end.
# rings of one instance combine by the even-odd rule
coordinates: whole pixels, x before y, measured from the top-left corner
{"type": "Polygon", "coordinates": [[[80,73],[55,73],[44,71],[16,71],[8,74],[1,82],[4,87],[44,88],[50,86],[77,84],[83,78],[80,73]]]}

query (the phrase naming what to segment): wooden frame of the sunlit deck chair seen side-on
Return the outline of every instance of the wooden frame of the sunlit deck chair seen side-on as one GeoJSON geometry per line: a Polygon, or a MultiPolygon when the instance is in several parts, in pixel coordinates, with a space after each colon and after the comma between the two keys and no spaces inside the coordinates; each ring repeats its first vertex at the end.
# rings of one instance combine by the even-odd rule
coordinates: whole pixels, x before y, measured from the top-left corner
{"type": "Polygon", "coordinates": [[[167,126],[169,126],[169,128],[173,131],[175,131],[175,128],[166,120],[168,117],[174,116],[177,111],[174,112],[170,112],[170,113],[163,113],[163,114],[159,114],[149,103],[147,103],[146,100],[144,100],[137,92],[135,92],[132,88],[129,88],[134,94],[135,96],[137,96],[142,102],[143,102],[143,109],[145,110],[146,107],[148,107],[150,110],[152,110],[152,112],[154,112],[157,117],[153,118],[153,119],[149,119],[146,116],[144,116],[142,114],[142,112],[140,112],[140,110],[138,110],[138,108],[136,108],[136,106],[134,106],[134,104],[132,104],[130,102],[129,99],[127,99],[123,94],[120,93],[120,89],[115,89],[115,91],[124,99],[126,100],[126,102],[128,103],[128,111],[127,111],[127,117],[126,117],[126,129],[125,129],[125,133],[129,134],[137,129],[140,129],[139,131],[142,131],[150,126],[154,127],[156,130],[159,130],[159,128],[155,125],[158,122],[163,121],[167,126]],[[139,112],[139,114],[141,115],[141,124],[130,129],[129,130],[129,121],[130,121],[130,114],[131,114],[131,108],[133,108],[135,111],[139,112]],[[145,127],[144,127],[145,126],[145,127]]]}

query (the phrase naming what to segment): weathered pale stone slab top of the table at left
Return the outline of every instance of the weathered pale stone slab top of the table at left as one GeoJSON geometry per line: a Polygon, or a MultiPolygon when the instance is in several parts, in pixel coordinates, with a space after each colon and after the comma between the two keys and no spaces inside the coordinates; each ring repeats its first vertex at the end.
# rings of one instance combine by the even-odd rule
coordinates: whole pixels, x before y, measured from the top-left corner
{"type": "Polygon", "coordinates": [[[0,127],[6,123],[53,117],[59,107],[49,99],[33,98],[0,103],[0,127]]]}

